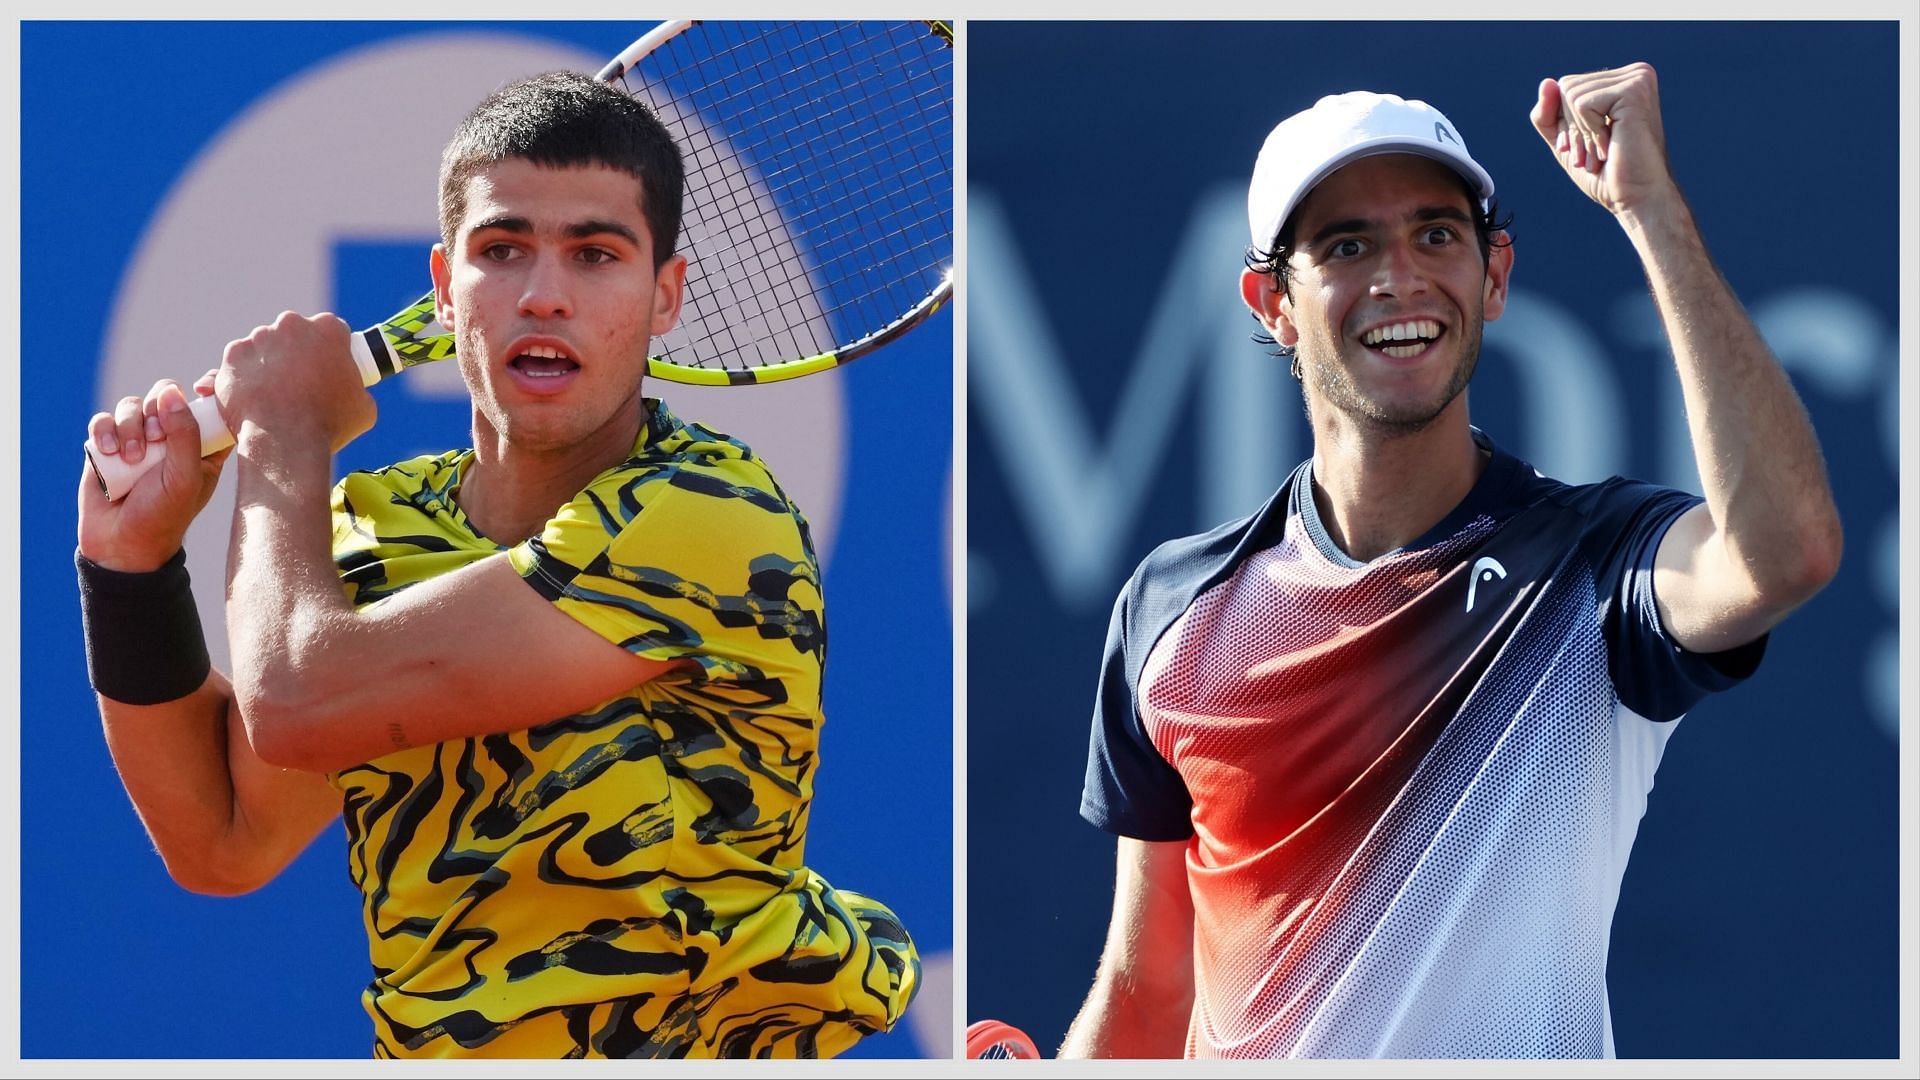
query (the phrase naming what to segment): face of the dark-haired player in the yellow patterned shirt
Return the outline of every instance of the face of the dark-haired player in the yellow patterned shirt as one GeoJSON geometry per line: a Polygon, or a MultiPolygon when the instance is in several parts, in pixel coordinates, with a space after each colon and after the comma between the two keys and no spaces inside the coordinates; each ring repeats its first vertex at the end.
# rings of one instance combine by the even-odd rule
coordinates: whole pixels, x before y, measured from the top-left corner
{"type": "Polygon", "coordinates": [[[507,158],[467,179],[434,292],[480,446],[622,455],[647,348],[680,317],[685,259],[653,265],[639,181],[507,158]]]}

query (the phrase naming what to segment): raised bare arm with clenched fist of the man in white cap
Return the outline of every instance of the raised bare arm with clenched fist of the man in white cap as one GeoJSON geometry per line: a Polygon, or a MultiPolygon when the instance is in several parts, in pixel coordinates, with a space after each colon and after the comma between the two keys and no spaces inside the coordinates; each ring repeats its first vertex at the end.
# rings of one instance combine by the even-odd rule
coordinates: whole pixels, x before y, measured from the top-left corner
{"type": "Polygon", "coordinates": [[[1839,511],[1812,423],[1672,179],[1653,67],[1548,79],[1532,121],[1632,240],[1680,373],[1707,502],[1661,540],[1661,625],[1697,653],[1747,644],[1839,569],[1839,511]]]}

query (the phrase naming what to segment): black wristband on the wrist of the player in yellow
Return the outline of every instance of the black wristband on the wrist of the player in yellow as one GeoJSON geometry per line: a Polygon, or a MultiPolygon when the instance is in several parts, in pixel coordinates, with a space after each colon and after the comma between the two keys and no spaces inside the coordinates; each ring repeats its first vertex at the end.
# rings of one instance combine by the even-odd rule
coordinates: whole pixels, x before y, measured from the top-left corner
{"type": "Polygon", "coordinates": [[[207,638],[186,577],[186,550],[144,575],[109,571],[73,552],[81,575],[86,678],[102,698],[159,705],[207,680],[207,638]]]}

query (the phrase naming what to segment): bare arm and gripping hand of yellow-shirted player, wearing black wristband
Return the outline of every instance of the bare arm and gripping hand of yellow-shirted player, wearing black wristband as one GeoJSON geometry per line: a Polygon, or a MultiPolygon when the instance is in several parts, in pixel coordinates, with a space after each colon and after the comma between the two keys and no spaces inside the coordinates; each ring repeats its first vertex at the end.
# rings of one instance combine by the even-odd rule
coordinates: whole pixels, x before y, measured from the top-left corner
{"type": "MultiPolygon", "coordinates": [[[[119,503],[106,502],[90,471],[83,469],[79,552],[98,567],[88,573],[152,575],[179,552],[186,527],[213,494],[227,455],[200,457],[200,434],[184,402],[179,386],[161,382],[146,400],[125,398],[111,417],[94,417],[96,446],[132,454],[131,444],[138,440],[144,444],[138,454],[165,454],[167,459],[119,503]]],[[[148,613],[131,613],[134,628],[146,634],[192,632],[167,619],[157,619],[156,626],[142,615],[148,613]]],[[[179,673],[154,665],[165,663],[156,657],[177,651],[169,650],[173,644],[134,650],[121,634],[90,634],[88,648],[111,655],[88,655],[88,663],[96,682],[111,684],[98,676],[104,669],[117,671],[123,684],[171,680],[179,673]]],[[[255,890],[340,813],[340,796],[321,774],[278,769],[253,753],[232,686],[219,671],[207,671],[198,688],[169,692],[179,690],[186,694],[142,705],[96,694],[113,765],[167,872],[180,886],[223,896],[255,890]]]]}

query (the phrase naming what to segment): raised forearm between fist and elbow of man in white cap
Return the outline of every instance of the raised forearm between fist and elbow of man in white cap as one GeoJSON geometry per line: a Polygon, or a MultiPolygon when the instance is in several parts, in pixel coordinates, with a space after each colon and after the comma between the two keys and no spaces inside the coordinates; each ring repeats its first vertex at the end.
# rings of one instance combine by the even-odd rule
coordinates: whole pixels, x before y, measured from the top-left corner
{"type": "Polygon", "coordinates": [[[1622,213],[1672,344],[1707,507],[1757,598],[1793,605],[1839,561],[1826,463],[1786,371],[1720,277],[1686,202],[1622,213]]]}

